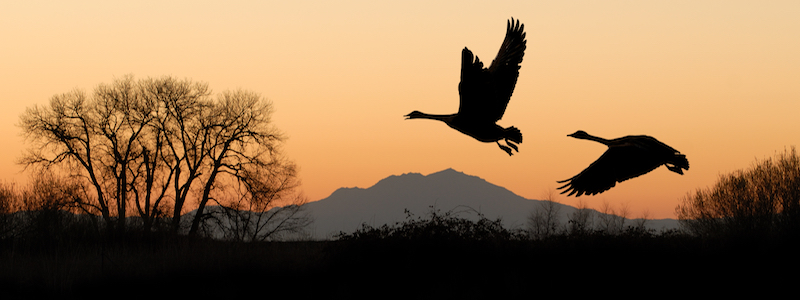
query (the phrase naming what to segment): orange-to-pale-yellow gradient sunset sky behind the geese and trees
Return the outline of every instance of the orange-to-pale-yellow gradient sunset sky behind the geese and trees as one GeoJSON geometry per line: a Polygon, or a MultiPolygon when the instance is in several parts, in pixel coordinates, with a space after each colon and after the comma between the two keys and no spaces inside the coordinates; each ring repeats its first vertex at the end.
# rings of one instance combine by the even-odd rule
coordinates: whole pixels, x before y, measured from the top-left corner
{"type": "Polygon", "coordinates": [[[309,200],[446,168],[542,199],[605,146],[647,134],[686,154],[599,196],[556,197],[673,218],[720,174],[800,142],[798,1],[3,1],[0,180],[27,177],[26,107],[133,74],[243,88],[273,101],[309,200]],[[500,125],[509,157],[413,110],[458,110],[460,53],[487,65],[506,21],[528,48],[500,125]]]}

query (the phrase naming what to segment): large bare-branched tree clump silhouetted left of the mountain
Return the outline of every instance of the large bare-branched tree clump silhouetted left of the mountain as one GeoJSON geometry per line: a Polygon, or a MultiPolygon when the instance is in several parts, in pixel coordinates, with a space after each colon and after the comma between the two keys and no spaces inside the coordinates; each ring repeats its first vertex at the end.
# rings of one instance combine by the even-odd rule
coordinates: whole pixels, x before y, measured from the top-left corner
{"type": "Polygon", "coordinates": [[[265,240],[308,222],[271,114],[272,104],[250,91],[214,96],[206,83],[128,75],[28,108],[19,126],[31,147],[20,163],[60,176],[64,196],[48,201],[99,216],[107,231],[124,233],[135,217],[137,230],[177,233],[182,216],[196,211],[188,233],[197,235],[213,205],[244,224],[234,235],[265,240]]]}

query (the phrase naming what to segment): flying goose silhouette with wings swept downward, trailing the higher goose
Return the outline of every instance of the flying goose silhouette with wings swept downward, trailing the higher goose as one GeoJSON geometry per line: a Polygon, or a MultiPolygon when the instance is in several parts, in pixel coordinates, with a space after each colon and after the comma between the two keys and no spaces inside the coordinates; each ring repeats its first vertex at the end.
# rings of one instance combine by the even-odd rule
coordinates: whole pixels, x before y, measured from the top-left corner
{"type": "Polygon", "coordinates": [[[608,150],[578,175],[558,181],[566,182],[558,189],[567,188],[561,192],[569,192],[567,196],[600,194],[614,187],[617,182],[647,174],[661,165],[681,175],[682,169],[689,169],[685,155],[650,136],[629,135],[607,140],[582,130],[568,136],[602,143],[608,146],[608,150]]]}

